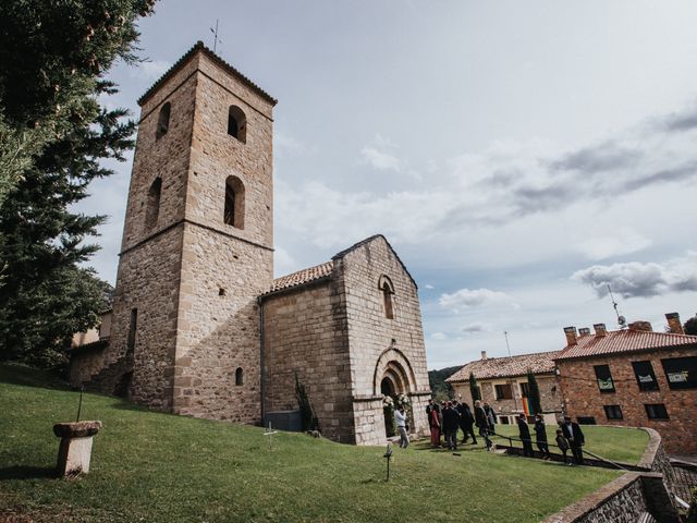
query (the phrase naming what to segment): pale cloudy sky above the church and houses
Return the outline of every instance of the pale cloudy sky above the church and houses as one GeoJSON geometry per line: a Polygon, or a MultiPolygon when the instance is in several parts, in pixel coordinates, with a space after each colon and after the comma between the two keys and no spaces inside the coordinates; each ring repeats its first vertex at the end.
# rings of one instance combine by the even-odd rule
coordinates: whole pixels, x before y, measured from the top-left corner
{"type": "MultiPolygon", "coordinates": [[[[196,40],[279,99],[276,275],[383,233],[419,284],[429,368],[561,349],[562,328],[697,312],[697,2],[159,2],[132,108],[196,40]]],[[[81,207],[110,215],[130,161],[81,207]]]]}

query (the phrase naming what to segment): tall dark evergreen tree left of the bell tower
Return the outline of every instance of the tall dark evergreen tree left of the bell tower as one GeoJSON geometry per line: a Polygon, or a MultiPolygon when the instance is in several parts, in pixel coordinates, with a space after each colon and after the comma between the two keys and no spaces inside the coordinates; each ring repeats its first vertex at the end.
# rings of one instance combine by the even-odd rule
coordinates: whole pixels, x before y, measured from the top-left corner
{"type": "Polygon", "coordinates": [[[135,58],[152,0],[0,2],[0,358],[59,361],[66,329],[93,326],[103,283],[81,269],[105,217],[71,207],[123,160],[135,124],[106,109],[101,74],[135,58]]]}

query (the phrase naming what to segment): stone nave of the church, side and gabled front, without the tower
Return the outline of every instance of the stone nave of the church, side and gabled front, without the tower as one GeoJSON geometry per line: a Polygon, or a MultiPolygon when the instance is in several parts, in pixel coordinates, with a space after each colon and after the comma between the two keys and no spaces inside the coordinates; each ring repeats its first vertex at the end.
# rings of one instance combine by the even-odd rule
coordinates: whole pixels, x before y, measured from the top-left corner
{"type": "Polygon", "coordinates": [[[264,309],[265,410],[295,408],[297,375],[323,434],[381,443],[388,386],[411,398],[412,430],[427,430],[430,390],[417,289],[384,238],[338,254],[320,280],[264,296],[264,309]],[[384,309],[383,277],[393,288],[392,318],[384,309]]]}

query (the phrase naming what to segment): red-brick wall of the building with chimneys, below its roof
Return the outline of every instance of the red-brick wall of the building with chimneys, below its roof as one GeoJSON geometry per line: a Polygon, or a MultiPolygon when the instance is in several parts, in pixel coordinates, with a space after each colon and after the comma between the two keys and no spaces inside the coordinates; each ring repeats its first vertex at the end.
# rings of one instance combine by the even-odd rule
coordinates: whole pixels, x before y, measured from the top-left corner
{"type": "Polygon", "coordinates": [[[661,350],[583,360],[561,360],[560,385],[571,416],[594,416],[599,424],[650,427],[658,430],[669,453],[697,453],[697,390],[671,390],[661,358],[696,356],[695,349],[661,350]],[[640,391],[632,362],[651,362],[659,390],[640,391]],[[609,365],[614,392],[600,392],[594,365],[609,365]],[[669,419],[649,419],[645,404],[663,403],[669,419]],[[608,419],[603,405],[620,405],[623,419],[608,419]]]}

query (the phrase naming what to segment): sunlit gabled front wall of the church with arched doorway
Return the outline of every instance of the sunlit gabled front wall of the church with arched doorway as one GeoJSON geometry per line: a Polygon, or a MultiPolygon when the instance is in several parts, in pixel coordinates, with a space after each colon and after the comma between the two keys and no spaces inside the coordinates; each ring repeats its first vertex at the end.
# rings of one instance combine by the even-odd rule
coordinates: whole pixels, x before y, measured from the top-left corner
{"type": "MultiPolygon", "coordinates": [[[[345,292],[351,384],[355,405],[356,443],[386,439],[380,381],[390,362],[404,370],[413,401],[413,429],[428,430],[426,402],[430,397],[421,313],[416,284],[382,236],[334,258],[337,278],[345,292]],[[394,318],[386,317],[378,282],[387,276],[394,285],[394,318]],[[393,341],[394,340],[394,341],[393,341]]],[[[398,391],[400,392],[400,391],[398,391]]]]}

